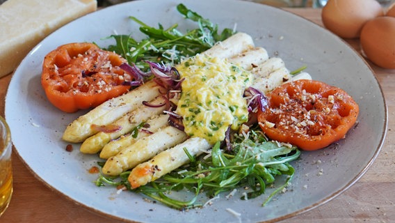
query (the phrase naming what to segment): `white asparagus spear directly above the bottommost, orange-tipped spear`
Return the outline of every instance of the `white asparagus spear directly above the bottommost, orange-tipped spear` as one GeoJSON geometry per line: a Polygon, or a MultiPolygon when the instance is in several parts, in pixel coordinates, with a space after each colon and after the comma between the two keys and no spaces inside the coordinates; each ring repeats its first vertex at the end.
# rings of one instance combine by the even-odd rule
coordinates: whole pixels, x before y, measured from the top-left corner
{"type": "Polygon", "coordinates": [[[108,158],[102,169],[103,174],[117,176],[127,169],[149,160],[157,153],[165,151],[187,139],[185,132],[168,126],[159,132],[143,137],[124,148],[117,155],[108,158]],[[142,149],[143,148],[143,149],[142,149]]]}

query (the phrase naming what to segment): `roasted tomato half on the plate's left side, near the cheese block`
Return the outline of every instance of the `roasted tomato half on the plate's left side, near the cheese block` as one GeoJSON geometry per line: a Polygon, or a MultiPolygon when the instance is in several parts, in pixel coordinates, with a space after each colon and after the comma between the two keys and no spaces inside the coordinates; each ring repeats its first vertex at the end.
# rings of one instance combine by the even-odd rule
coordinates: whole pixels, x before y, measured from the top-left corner
{"type": "Polygon", "coordinates": [[[42,65],[41,84],[51,104],[63,112],[97,107],[129,91],[133,77],[119,66],[118,54],[93,43],[70,43],[49,52],[42,65]]]}

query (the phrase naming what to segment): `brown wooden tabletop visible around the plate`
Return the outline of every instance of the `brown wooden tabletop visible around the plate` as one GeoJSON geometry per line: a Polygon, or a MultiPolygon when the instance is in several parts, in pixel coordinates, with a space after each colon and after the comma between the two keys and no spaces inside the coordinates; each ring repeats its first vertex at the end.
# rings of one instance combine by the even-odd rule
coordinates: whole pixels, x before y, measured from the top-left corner
{"type": "MultiPolygon", "coordinates": [[[[289,8],[320,24],[321,10],[289,8]]],[[[358,40],[347,40],[360,51],[358,40]]],[[[371,64],[371,63],[370,63],[371,64]]],[[[355,185],[328,203],[283,222],[394,222],[395,221],[395,70],[373,66],[385,93],[389,126],[384,147],[371,168],[355,185]]],[[[12,75],[0,79],[0,114],[4,115],[4,98],[12,75]]],[[[13,155],[14,194],[0,222],[118,222],[65,199],[27,169],[13,155]]]]}

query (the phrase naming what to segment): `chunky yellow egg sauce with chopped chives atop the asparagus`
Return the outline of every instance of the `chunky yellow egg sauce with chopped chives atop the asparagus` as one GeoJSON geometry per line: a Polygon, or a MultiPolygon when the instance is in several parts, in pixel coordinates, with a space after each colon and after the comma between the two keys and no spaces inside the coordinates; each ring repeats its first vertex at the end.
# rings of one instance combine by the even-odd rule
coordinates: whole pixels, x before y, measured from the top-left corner
{"type": "Polygon", "coordinates": [[[250,72],[227,59],[198,54],[177,66],[184,79],[177,114],[183,117],[185,132],[209,143],[225,139],[229,125],[238,130],[248,121],[247,102],[243,98],[252,82],[250,72]]]}

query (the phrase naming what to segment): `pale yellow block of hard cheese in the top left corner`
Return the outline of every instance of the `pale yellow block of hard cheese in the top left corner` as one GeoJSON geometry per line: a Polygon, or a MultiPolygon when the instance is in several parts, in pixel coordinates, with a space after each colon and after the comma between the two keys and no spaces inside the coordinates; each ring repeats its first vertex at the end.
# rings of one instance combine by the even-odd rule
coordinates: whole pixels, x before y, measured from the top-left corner
{"type": "Polygon", "coordinates": [[[40,40],[97,9],[95,0],[8,0],[0,5],[0,77],[13,72],[40,40]]]}

